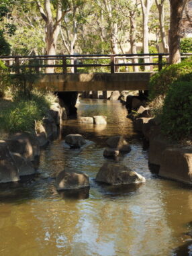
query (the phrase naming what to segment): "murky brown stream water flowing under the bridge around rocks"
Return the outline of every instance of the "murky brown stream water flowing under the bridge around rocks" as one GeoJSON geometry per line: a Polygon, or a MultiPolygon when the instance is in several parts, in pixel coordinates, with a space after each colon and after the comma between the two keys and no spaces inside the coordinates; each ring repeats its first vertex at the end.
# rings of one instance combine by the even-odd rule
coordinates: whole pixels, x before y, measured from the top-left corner
{"type": "Polygon", "coordinates": [[[118,101],[81,100],[78,109],[79,116],[107,116],[107,125],[66,120],[60,138],[42,151],[38,175],[0,185],[0,255],[192,255],[191,187],[150,173],[148,152],[118,101]],[[70,133],[83,134],[87,144],[71,150],[63,140],[70,133]],[[119,161],[145,184],[95,182],[105,140],[116,134],[132,146],[119,161]],[[54,177],[64,167],[87,173],[90,191],[58,194],[54,177]]]}

